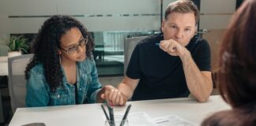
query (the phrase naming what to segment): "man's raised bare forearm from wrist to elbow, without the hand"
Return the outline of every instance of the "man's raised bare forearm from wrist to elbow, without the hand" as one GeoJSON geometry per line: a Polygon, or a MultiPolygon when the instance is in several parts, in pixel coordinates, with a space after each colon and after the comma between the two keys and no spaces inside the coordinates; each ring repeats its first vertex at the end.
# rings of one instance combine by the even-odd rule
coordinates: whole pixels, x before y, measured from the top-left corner
{"type": "Polygon", "coordinates": [[[181,60],[183,61],[183,70],[190,93],[197,98],[198,102],[205,102],[213,91],[211,77],[202,74],[191,57],[190,52],[184,54],[181,60]]]}

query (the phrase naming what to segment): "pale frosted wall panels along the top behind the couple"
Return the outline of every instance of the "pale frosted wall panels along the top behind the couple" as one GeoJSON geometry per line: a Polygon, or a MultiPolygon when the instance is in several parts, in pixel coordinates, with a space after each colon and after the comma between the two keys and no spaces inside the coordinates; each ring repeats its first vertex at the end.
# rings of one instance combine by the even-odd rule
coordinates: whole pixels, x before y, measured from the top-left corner
{"type": "MultiPolygon", "coordinates": [[[[164,0],[164,9],[175,0],[164,0]]],[[[225,28],[235,11],[235,0],[201,0],[200,28],[225,28]]],[[[145,31],[160,28],[160,0],[1,0],[0,34],[36,33],[54,14],[78,15],[89,31],[145,31]],[[102,15],[102,17],[88,17],[102,15]],[[107,17],[113,14],[115,17],[107,17]],[[129,14],[129,17],[120,17],[129,14]],[[139,14],[139,16],[134,16],[139,14]]]]}

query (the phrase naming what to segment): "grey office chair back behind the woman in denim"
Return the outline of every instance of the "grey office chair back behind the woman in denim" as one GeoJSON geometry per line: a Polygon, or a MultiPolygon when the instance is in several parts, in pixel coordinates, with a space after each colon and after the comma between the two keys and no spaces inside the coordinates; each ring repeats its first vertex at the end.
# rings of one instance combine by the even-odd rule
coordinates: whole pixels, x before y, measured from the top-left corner
{"type": "Polygon", "coordinates": [[[26,80],[24,70],[33,56],[34,54],[24,54],[8,58],[8,86],[13,113],[17,108],[25,107],[26,80]]]}

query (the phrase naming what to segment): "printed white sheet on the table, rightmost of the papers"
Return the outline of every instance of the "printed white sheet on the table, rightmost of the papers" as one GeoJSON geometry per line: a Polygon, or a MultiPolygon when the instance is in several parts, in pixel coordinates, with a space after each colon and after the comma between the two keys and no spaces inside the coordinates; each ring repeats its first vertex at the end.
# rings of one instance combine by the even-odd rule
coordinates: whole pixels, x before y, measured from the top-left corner
{"type": "Polygon", "coordinates": [[[196,126],[189,120],[185,120],[182,117],[176,115],[170,115],[167,117],[154,118],[156,126],[196,126]]]}

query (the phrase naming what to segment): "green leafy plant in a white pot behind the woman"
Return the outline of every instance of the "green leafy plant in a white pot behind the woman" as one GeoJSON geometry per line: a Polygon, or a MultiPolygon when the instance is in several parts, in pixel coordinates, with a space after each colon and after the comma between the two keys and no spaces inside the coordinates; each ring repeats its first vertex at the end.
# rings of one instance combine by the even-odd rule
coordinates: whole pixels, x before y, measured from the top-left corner
{"type": "Polygon", "coordinates": [[[8,57],[14,57],[23,53],[28,53],[28,39],[25,39],[22,35],[11,35],[6,41],[6,46],[9,47],[8,57]]]}

